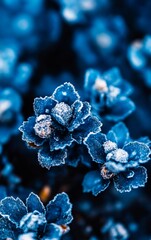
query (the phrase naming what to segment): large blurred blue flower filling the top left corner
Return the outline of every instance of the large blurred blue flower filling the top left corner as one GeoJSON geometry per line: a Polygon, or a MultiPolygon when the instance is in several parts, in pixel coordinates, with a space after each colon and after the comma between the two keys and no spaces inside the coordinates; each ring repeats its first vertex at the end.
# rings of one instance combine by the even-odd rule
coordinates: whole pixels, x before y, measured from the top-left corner
{"type": "Polygon", "coordinates": [[[58,40],[61,33],[61,19],[55,10],[47,9],[44,1],[10,1],[1,4],[1,39],[17,41],[21,50],[37,51],[41,43],[58,40]],[[7,24],[9,22],[9,28],[7,24]],[[55,26],[55,27],[54,27],[55,26]]]}

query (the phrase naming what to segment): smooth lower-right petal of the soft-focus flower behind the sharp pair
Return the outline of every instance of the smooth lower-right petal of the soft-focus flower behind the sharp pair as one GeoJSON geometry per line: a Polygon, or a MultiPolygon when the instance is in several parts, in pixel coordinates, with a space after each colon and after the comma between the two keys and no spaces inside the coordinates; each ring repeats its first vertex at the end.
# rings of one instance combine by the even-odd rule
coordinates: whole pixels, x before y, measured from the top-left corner
{"type": "Polygon", "coordinates": [[[110,113],[105,116],[109,121],[118,122],[124,120],[135,110],[134,103],[127,97],[121,97],[110,108],[110,113]]]}

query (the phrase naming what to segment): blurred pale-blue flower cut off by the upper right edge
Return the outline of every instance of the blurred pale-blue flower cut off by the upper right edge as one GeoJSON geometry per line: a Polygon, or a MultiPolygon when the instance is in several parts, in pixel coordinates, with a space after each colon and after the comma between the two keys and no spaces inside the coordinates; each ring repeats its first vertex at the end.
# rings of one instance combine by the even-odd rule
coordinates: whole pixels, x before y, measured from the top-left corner
{"type": "Polygon", "coordinates": [[[147,87],[151,88],[151,35],[134,41],[128,48],[128,60],[143,78],[147,87]]]}

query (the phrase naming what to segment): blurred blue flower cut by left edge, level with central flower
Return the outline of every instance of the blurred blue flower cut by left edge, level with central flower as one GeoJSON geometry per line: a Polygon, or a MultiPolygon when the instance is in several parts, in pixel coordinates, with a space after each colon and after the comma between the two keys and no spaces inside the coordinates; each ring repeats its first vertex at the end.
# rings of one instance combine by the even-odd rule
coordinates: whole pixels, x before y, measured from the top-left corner
{"type": "Polygon", "coordinates": [[[5,144],[12,135],[18,133],[18,127],[23,120],[20,113],[22,99],[11,88],[0,90],[0,144],[5,144]]]}

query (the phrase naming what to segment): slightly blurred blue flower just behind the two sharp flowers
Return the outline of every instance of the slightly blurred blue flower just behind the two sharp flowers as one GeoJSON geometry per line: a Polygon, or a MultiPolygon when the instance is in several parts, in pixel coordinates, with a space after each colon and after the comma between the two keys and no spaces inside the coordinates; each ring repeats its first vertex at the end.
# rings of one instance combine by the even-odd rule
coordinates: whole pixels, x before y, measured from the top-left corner
{"type": "Polygon", "coordinates": [[[118,68],[103,74],[93,69],[87,70],[84,87],[92,109],[109,121],[123,120],[135,109],[128,98],[132,87],[122,78],[118,68]]]}

